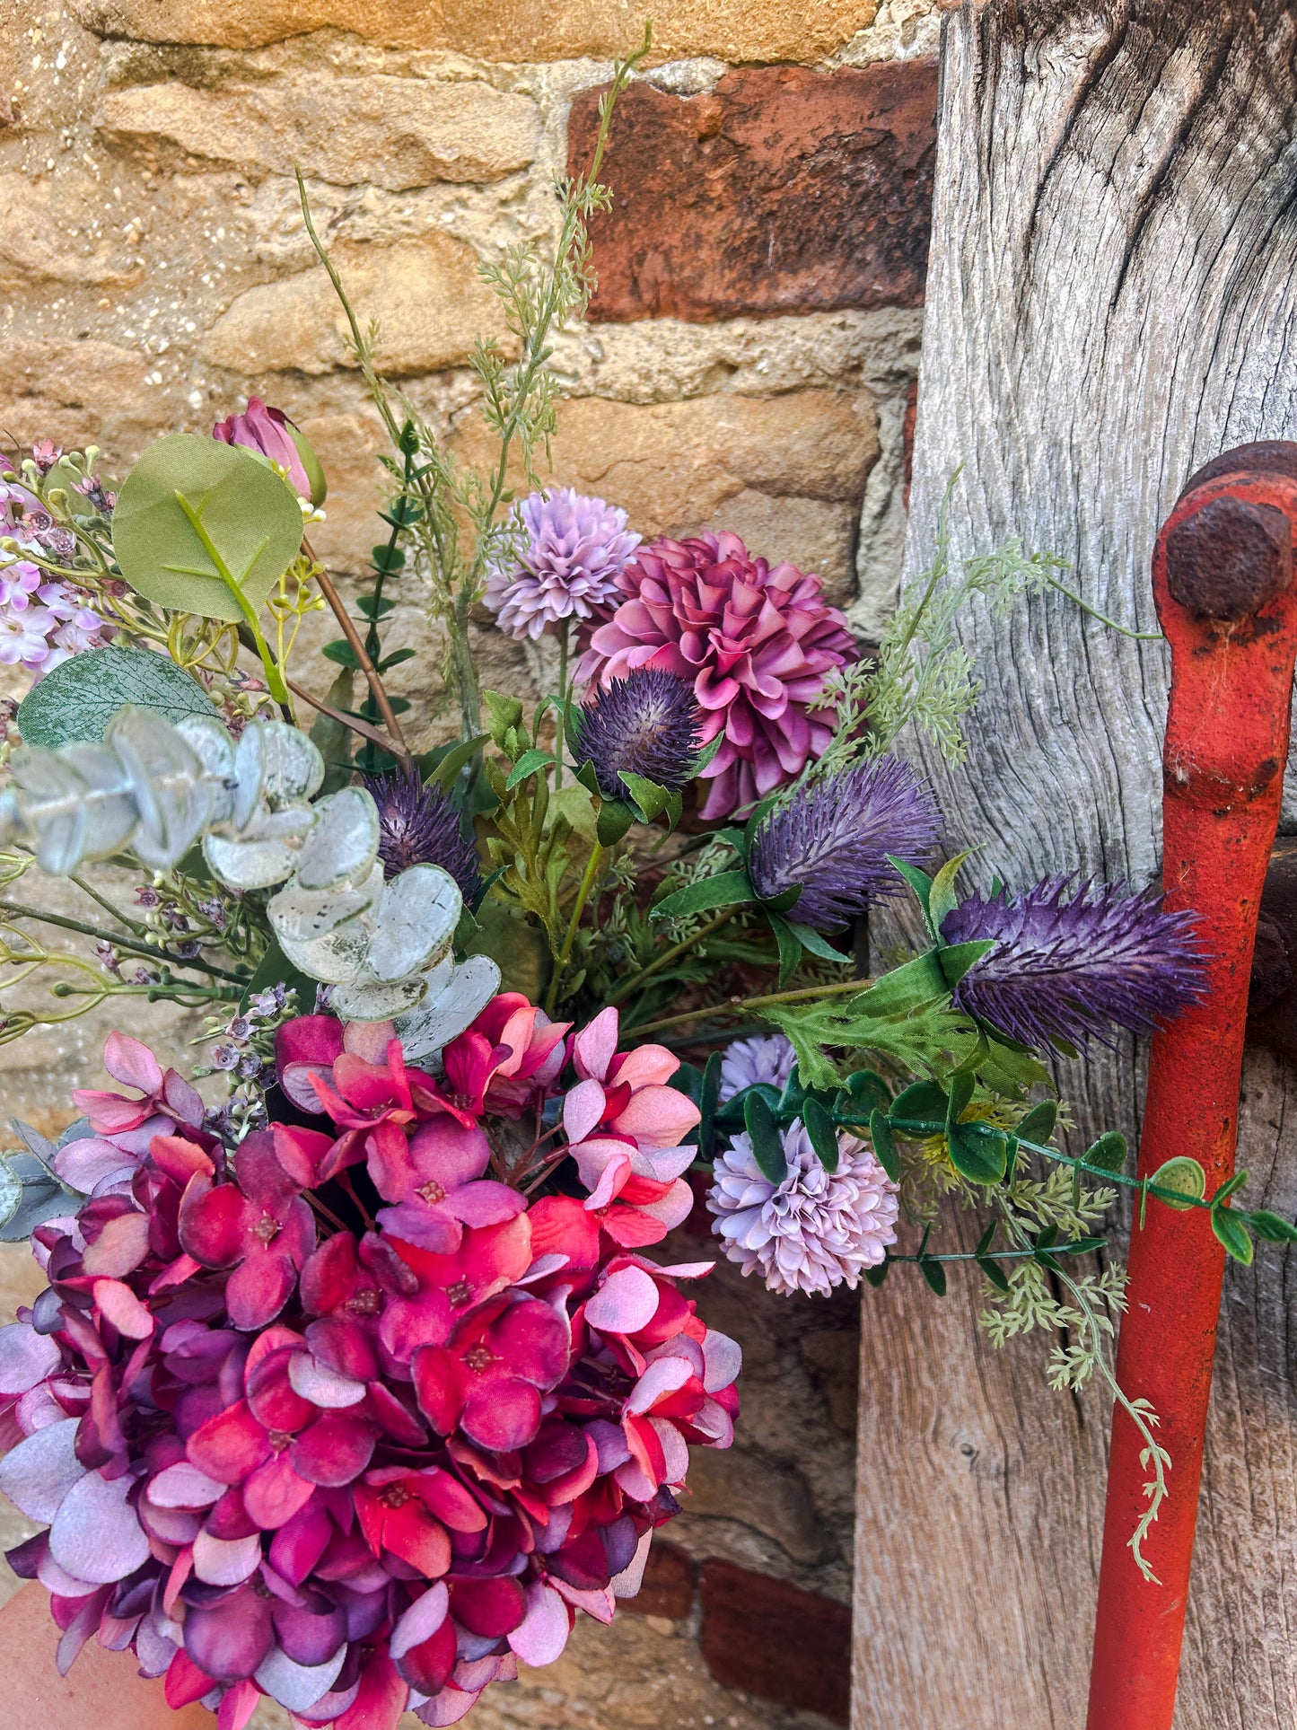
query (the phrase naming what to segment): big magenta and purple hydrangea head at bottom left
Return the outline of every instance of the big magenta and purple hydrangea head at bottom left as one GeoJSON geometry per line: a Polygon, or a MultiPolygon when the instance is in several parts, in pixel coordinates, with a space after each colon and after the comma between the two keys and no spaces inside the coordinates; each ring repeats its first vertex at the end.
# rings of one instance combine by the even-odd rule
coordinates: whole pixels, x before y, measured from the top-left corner
{"type": "Polygon", "coordinates": [[[680,1284],[711,1265],[643,1254],[692,1201],[676,1059],[508,995],[436,1078],[389,1031],[287,1022],[280,1083],[320,1126],[233,1152],[112,1035],[131,1092],[76,1095],[55,1163],[85,1201],[0,1330],[0,1490],[47,1526],[9,1559],[61,1669],[130,1649],[218,1730],[263,1695],[299,1727],[457,1723],[578,1611],[610,1621],[690,1445],[733,1434],[738,1348],[680,1284]],[[508,1169],[502,1126],[534,1135],[508,1169]],[[564,1159],[581,1194],[529,1202],[521,1173],[564,1159]]]}

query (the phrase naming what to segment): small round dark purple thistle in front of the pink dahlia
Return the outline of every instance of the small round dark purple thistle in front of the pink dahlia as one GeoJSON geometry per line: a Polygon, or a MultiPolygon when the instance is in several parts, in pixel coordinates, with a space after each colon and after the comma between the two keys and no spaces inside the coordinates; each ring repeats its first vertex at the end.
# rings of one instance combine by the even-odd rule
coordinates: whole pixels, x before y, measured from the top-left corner
{"type": "Polygon", "coordinates": [[[578,711],[578,759],[590,758],[600,792],[626,798],[621,770],[659,787],[683,787],[693,778],[702,714],[688,680],[648,668],[614,678],[578,711]]]}

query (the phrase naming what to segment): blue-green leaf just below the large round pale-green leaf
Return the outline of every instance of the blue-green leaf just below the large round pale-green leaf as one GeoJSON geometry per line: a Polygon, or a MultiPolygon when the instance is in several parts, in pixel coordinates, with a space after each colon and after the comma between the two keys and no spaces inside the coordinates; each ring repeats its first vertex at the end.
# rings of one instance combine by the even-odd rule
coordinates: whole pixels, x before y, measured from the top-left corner
{"type": "Polygon", "coordinates": [[[216,714],[202,685],[169,656],[150,649],[93,649],[71,656],[33,685],[19,704],[17,725],[26,744],[50,751],[99,744],[125,702],[168,721],[216,714]]]}

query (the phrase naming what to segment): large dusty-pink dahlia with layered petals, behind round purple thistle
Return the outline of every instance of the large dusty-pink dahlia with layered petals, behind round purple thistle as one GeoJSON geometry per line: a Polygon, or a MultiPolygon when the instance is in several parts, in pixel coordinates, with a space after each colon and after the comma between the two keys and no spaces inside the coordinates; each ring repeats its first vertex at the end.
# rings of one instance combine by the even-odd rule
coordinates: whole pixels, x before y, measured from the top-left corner
{"type": "Polygon", "coordinates": [[[607,685],[648,666],[690,680],[702,742],[725,739],[702,772],[704,817],[745,810],[821,754],[825,678],[858,649],[818,576],[771,569],[721,533],[642,547],[617,588],[626,599],[590,638],[581,676],[607,685]]]}

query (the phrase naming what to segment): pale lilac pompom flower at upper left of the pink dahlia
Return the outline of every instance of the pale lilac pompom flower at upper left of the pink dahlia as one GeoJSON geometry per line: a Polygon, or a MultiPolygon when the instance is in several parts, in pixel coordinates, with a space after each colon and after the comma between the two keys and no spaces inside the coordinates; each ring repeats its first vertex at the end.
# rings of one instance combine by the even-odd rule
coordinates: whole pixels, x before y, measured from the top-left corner
{"type": "Polygon", "coordinates": [[[512,554],[491,566],[482,600],[507,637],[534,642],[560,619],[590,619],[621,600],[617,578],[640,545],[626,512],[571,486],[517,507],[512,554]]]}

